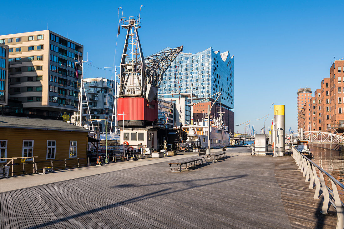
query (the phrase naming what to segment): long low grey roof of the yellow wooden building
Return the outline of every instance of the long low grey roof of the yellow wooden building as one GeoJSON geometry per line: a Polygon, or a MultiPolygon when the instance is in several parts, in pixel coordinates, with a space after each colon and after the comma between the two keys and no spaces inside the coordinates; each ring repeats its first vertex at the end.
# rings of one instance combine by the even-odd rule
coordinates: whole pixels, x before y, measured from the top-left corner
{"type": "Polygon", "coordinates": [[[51,119],[35,119],[13,116],[0,116],[0,128],[21,128],[36,130],[60,130],[60,131],[81,131],[89,132],[90,130],[78,127],[63,121],[51,119]]]}

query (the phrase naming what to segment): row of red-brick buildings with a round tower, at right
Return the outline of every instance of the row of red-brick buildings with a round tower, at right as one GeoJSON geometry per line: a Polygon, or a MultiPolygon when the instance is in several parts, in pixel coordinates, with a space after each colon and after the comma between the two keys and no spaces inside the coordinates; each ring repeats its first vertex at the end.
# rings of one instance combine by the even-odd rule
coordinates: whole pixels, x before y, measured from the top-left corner
{"type": "Polygon", "coordinates": [[[344,60],[341,59],[332,64],[330,78],[323,78],[321,89],[314,91],[309,103],[308,96],[300,96],[300,94],[308,95],[310,88],[298,90],[298,128],[303,127],[305,131],[344,133],[343,79],[344,60]]]}

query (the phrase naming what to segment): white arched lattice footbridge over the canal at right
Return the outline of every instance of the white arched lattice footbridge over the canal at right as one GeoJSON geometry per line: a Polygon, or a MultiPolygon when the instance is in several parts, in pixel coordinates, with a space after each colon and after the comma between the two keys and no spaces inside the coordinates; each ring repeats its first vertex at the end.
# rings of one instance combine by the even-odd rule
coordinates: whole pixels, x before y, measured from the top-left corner
{"type": "MultiPolygon", "coordinates": [[[[286,135],[286,144],[297,140],[301,140],[301,132],[286,135]]],[[[344,145],[343,136],[323,131],[304,131],[303,140],[308,140],[310,143],[344,145]]]]}

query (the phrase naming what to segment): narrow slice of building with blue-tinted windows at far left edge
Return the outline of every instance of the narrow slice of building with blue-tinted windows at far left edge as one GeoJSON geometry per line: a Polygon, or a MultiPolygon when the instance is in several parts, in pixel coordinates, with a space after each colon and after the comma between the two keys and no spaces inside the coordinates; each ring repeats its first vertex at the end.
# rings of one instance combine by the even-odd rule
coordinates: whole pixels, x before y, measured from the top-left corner
{"type": "Polygon", "coordinates": [[[0,43],[0,106],[8,100],[8,46],[0,43]]]}

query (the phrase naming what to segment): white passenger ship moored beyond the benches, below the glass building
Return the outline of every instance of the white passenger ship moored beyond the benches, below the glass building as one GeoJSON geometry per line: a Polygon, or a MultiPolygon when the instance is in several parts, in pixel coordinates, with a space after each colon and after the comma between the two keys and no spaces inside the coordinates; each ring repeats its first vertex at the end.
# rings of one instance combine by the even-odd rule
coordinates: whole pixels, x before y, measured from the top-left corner
{"type": "MultiPolygon", "coordinates": [[[[201,141],[202,147],[208,147],[208,120],[184,125],[182,129],[187,132],[187,141],[201,141]]],[[[229,145],[228,127],[219,119],[210,119],[210,147],[220,148],[229,145]]]]}

